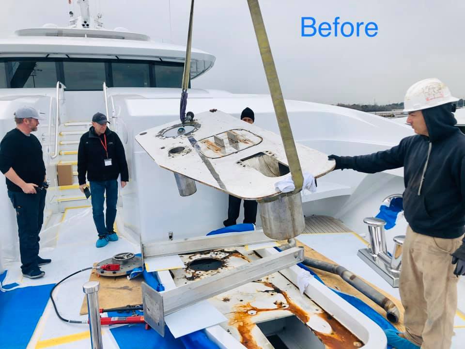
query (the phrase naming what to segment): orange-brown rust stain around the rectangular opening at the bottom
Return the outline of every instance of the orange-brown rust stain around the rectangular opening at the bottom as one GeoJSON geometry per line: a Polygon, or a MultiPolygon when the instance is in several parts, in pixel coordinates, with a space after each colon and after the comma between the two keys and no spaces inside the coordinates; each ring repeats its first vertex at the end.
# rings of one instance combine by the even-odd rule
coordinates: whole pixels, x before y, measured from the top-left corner
{"type": "MultiPolygon", "coordinates": [[[[230,326],[237,328],[241,336],[241,343],[248,349],[261,349],[252,335],[252,330],[255,326],[253,317],[261,312],[266,311],[276,311],[279,309],[286,310],[294,314],[300,321],[304,324],[310,320],[310,316],[297,304],[295,304],[287,295],[285,291],[282,291],[272,283],[268,281],[256,281],[264,286],[270,288],[261,292],[265,293],[279,293],[281,294],[285,302],[275,301],[274,304],[276,308],[257,308],[250,304],[250,302],[245,304],[238,304],[236,310],[233,314],[233,317],[229,321],[230,326]]],[[[327,349],[343,349],[343,348],[360,348],[363,343],[351,332],[349,332],[345,327],[341,325],[334,317],[330,316],[327,313],[315,314],[313,316],[319,316],[329,323],[332,328],[331,334],[320,333],[314,330],[311,330],[325,345],[327,349]]]]}

